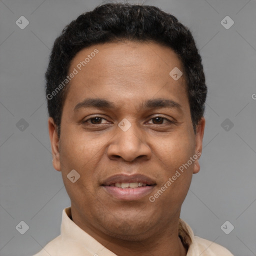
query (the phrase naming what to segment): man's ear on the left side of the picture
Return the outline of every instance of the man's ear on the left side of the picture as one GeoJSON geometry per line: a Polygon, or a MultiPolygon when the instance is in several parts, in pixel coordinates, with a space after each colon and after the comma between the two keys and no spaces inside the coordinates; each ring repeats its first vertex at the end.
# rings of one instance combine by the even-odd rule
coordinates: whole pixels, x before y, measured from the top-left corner
{"type": "Polygon", "coordinates": [[[59,139],[57,136],[57,126],[54,123],[52,117],[48,118],[48,130],[49,130],[51,152],[52,152],[52,165],[54,169],[60,171],[59,139]]]}

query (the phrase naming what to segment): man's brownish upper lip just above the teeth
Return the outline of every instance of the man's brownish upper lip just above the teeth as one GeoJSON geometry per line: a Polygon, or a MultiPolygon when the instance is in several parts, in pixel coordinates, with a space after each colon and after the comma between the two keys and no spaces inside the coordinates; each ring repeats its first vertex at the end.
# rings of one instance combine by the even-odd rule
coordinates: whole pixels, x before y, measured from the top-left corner
{"type": "Polygon", "coordinates": [[[147,185],[154,185],[156,184],[155,181],[143,174],[126,174],[126,173],[121,173],[121,174],[115,174],[107,179],[105,179],[102,183],[102,185],[111,185],[114,183],[122,183],[122,182],[127,182],[127,183],[133,183],[133,182],[142,182],[146,183],[147,185]]]}

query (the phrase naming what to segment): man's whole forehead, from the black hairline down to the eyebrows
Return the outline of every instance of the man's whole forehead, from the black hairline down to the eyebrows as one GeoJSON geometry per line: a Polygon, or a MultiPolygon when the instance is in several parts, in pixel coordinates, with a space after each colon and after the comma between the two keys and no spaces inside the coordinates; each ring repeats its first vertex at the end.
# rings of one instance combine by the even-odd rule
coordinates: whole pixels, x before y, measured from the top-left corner
{"type": "MultiPolygon", "coordinates": [[[[175,80],[171,70],[182,70],[182,62],[167,46],[152,42],[110,42],[80,50],[72,59],[68,84],[69,99],[108,97],[125,102],[171,95],[186,96],[185,79],[175,80]]],[[[187,98],[186,98],[187,100],[187,98]]],[[[138,102],[139,104],[139,102],[138,102]]]]}

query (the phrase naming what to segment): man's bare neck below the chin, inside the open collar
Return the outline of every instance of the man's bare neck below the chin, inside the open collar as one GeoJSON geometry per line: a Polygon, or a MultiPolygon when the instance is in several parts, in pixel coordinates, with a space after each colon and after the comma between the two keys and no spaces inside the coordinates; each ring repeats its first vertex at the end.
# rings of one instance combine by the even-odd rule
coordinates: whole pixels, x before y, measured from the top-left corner
{"type": "Polygon", "coordinates": [[[178,236],[179,218],[168,221],[168,225],[152,228],[147,234],[140,234],[139,236],[134,235],[127,237],[127,239],[104,233],[92,226],[91,223],[81,222],[79,217],[77,218],[75,214],[72,214],[72,220],[116,255],[185,256],[187,253],[187,249],[178,236]]]}

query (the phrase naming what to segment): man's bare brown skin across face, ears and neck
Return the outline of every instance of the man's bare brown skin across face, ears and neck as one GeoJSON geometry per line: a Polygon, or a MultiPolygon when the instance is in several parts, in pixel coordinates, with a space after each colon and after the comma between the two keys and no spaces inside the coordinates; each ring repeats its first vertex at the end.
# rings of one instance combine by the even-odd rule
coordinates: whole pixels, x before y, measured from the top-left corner
{"type": "Polygon", "coordinates": [[[62,173],[72,220],[117,255],[186,255],[178,220],[199,157],[154,202],[148,199],[202,149],[205,120],[194,133],[184,76],[175,81],[169,75],[175,66],[182,71],[182,63],[169,47],[123,41],[82,49],[69,71],[95,48],[99,52],[68,85],[59,138],[48,119],[53,166],[62,173]],[[74,111],[88,97],[110,100],[116,108],[74,111]],[[140,108],[154,98],[171,99],[180,108],[140,108]],[[102,119],[89,119],[98,115],[102,119]],[[123,118],[131,123],[125,132],[118,127],[123,118]],[[66,177],[72,169],[80,174],[74,183],[66,177]],[[145,174],[156,186],[138,200],[117,200],[100,185],[123,172],[145,174]]]}

